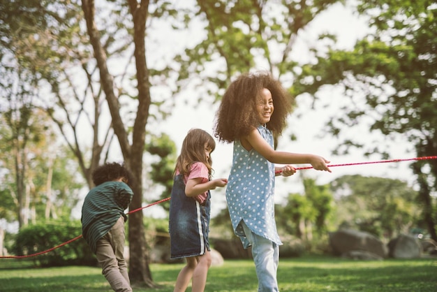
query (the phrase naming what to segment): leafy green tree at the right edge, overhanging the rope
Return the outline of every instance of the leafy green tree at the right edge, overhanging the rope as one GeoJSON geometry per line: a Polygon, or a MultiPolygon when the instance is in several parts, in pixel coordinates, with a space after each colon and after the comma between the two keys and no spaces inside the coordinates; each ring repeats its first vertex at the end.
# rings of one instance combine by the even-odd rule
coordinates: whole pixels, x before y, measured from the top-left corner
{"type": "MultiPolygon", "coordinates": [[[[437,153],[437,9],[434,1],[362,1],[357,10],[369,15],[375,33],[358,41],[352,51],[331,50],[318,54],[314,65],[305,67],[299,86],[314,93],[321,86],[339,84],[353,103],[343,108],[345,115],[332,117],[334,136],[344,126],[369,123],[371,131],[387,138],[401,136],[413,145],[417,156],[437,153]],[[311,78],[310,78],[311,77],[311,78]],[[364,103],[361,96],[364,95],[364,103]],[[356,105],[360,106],[356,106],[356,105]]],[[[339,152],[364,147],[359,137],[343,138],[339,152]]],[[[367,149],[382,153],[387,149],[367,149]]],[[[420,180],[424,219],[431,237],[437,240],[431,193],[437,187],[437,161],[414,163],[420,180]],[[427,166],[428,168],[424,167],[427,166]],[[424,180],[430,175],[432,180],[424,180]]]]}

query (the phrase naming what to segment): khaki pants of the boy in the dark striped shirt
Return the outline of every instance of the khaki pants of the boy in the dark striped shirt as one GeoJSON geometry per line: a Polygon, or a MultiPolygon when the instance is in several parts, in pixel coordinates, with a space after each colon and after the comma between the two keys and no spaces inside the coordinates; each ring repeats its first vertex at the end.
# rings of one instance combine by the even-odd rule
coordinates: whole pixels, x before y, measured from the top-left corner
{"type": "Polygon", "coordinates": [[[123,256],[124,239],[124,217],[121,216],[111,230],[97,242],[96,257],[102,267],[102,274],[117,292],[132,291],[123,256]]]}

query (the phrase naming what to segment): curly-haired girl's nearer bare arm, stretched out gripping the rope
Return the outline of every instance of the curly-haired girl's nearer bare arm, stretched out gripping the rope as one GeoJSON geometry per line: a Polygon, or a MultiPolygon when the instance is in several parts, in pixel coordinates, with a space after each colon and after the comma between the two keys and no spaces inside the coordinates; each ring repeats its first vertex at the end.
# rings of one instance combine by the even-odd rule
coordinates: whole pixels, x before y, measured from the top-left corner
{"type": "Polygon", "coordinates": [[[315,154],[299,154],[291,152],[276,151],[270,147],[257,129],[253,130],[246,137],[242,138],[242,145],[250,150],[255,149],[258,153],[265,157],[268,161],[272,163],[279,164],[292,164],[292,163],[310,163],[316,170],[325,170],[331,172],[327,167],[326,163],[329,163],[326,159],[315,154]]]}

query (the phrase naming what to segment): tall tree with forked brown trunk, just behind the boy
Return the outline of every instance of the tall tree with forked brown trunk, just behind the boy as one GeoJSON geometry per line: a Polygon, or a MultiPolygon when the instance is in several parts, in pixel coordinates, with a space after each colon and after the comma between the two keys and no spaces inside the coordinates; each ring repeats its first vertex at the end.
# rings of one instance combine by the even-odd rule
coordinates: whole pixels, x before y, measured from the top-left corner
{"type": "MultiPolygon", "coordinates": [[[[205,96],[218,97],[233,76],[260,66],[282,77],[286,85],[290,86],[300,67],[291,56],[298,32],[332,3],[341,3],[339,0],[307,0],[299,3],[295,1],[231,3],[208,0],[196,1],[196,5],[177,10],[172,1],[159,0],[151,3],[146,0],[110,0],[95,3],[87,0],[82,1],[83,13],[77,13],[76,1],[59,3],[53,0],[43,2],[44,5],[35,1],[17,1],[20,1],[21,5],[8,6],[9,10],[5,10],[5,16],[15,9],[18,10],[18,15],[29,15],[28,18],[32,19],[34,15],[29,13],[30,10],[21,8],[31,6],[40,15],[40,18],[37,18],[38,24],[39,22],[50,24],[50,29],[44,30],[47,34],[40,34],[40,36],[43,36],[41,39],[53,42],[45,45],[41,43],[37,47],[46,48],[47,52],[29,50],[39,54],[39,59],[38,57],[33,59],[33,61],[39,60],[35,63],[38,66],[31,66],[37,74],[42,74],[40,65],[50,64],[43,67],[45,69],[43,79],[50,85],[51,95],[55,97],[57,107],[49,107],[48,112],[53,114],[52,117],[63,134],[66,133],[64,126],[68,126],[68,129],[73,132],[74,138],[68,145],[80,161],[82,173],[87,177],[90,187],[89,175],[96,164],[107,157],[102,149],[103,147],[108,149],[113,131],[117,136],[124,161],[138,182],[134,187],[135,196],[131,208],[141,207],[142,203],[142,166],[140,165],[142,153],[140,152],[144,149],[149,118],[165,115],[166,112],[161,112],[163,109],[161,105],[172,102],[172,98],[168,98],[170,101],[165,98],[160,99],[159,94],[154,95],[152,100],[152,86],[162,84],[168,86],[172,80],[177,79],[175,88],[170,87],[175,94],[185,90],[188,83],[196,86],[198,95],[195,94],[194,97],[211,101],[205,96]],[[62,7],[62,4],[68,6],[62,7]],[[98,13],[95,4],[101,5],[97,8],[98,13]],[[59,15],[61,13],[65,15],[59,15]],[[47,22],[45,17],[50,21],[47,22]],[[83,27],[81,17],[84,17],[86,23],[84,27],[87,28],[87,40],[84,40],[85,34],[81,30],[83,27]],[[152,19],[154,22],[151,21],[152,19]],[[183,54],[176,57],[165,56],[171,61],[164,62],[163,65],[155,62],[154,66],[150,66],[154,61],[149,58],[151,51],[154,48],[161,48],[150,39],[156,23],[159,24],[159,28],[163,25],[169,27],[168,23],[171,23],[173,30],[186,29],[190,24],[199,27],[198,24],[201,23],[200,27],[205,25],[206,33],[203,34],[202,31],[203,38],[197,42],[193,42],[190,38],[189,43],[184,44],[186,47],[182,48],[182,50],[186,48],[183,54]],[[50,31],[54,31],[57,37],[50,37],[50,31]],[[146,36],[149,41],[148,54],[146,54],[146,36]],[[89,45],[94,52],[93,56],[88,53],[91,51],[88,50],[89,45]],[[149,58],[147,59],[149,62],[146,61],[146,57],[149,58]],[[63,60],[65,62],[62,62],[63,60]],[[68,62],[83,65],[82,71],[86,74],[86,78],[80,78],[82,82],[80,85],[85,84],[84,89],[74,84],[71,77],[78,71],[68,67],[68,62]],[[62,66],[59,68],[56,66],[57,63],[62,66]],[[50,72],[50,68],[56,69],[54,73],[50,72]],[[202,84],[202,87],[198,84],[202,84]],[[71,90],[65,90],[66,87],[71,90]],[[82,96],[77,92],[86,94],[82,96]],[[91,96],[91,108],[96,110],[86,111],[90,108],[90,103],[85,101],[86,96],[91,96]],[[103,105],[101,102],[103,96],[112,118],[112,129],[108,127],[107,131],[103,131],[103,135],[99,135],[96,130],[104,125],[98,123],[101,110],[97,109],[103,105]],[[133,107],[129,106],[132,105],[132,101],[133,107]],[[152,106],[155,107],[151,108],[152,106]],[[69,116],[72,108],[75,109],[73,111],[75,115],[69,116]],[[57,117],[59,109],[64,114],[62,119],[57,117]],[[77,121],[82,112],[87,112],[83,115],[85,119],[91,121],[91,128],[94,130],[93,143],[89,147],[91,162],[88,166],[87,157],[80,151],[78,143],[82,131],[79,130],[80,123],[77,121]],[[102,136],[109,138],[101,142],[98,138],[102,136]]],[[[14,3],[17,4],[16,1],[14,3]]],[[[12,15],[14,14],[17,13],[12,15]]],[[[8,20],[12,22],[12,17],[8,20]]],[[[32,33],[35,34],[35,31],[32,33]]],[[[293,89],[290,90],[294,92],[293,89]]],[[[131,278],[133,282],[145,282],[147,286],[153,286],[145,254],[143,233],[142,213],[135,212],[129,220],[131,278]]]]}

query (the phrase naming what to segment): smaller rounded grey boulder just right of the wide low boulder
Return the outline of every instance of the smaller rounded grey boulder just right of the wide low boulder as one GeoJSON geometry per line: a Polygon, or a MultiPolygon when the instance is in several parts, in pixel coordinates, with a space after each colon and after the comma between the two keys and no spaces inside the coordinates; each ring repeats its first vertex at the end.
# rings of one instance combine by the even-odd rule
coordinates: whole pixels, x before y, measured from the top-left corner
{"type": "Polygon", "coordinates": [[[413,235],[401,234],[388,242],[389,256],[392,258],[420,258],[422,245],[413,235]]]}

